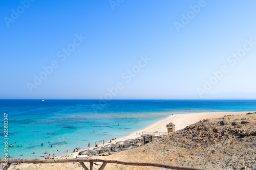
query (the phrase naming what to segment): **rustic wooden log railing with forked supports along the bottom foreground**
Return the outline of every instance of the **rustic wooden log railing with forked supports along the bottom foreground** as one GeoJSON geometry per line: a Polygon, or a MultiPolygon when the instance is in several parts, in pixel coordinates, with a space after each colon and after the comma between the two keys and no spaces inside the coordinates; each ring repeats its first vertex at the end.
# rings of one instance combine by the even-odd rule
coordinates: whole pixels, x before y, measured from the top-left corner
{"type": "MultiPolygon", "coordinates": [[[[5,159],[0,159],[1,163],[5,163],[5,159]]],[[[122,161],[116,161],[116,160],[102,160],[102,159],[81,159],[81,158],[75,158],[75,159],[8,159],[8,164],[4,170],[8,169],[10,167],[10,164],[12,163],[67,163],[67,162],[79,162],[82,167],[86,170],[89,170],[89,168],[83,163],[83,162],[90,162],[90,170],[93,169],[93,162],[103,162],[103,164],[100,166],[100,170],[104,169],[107,163],[116,163],[116,164],[122,164],[122,165],[133,165],[133,166],[155,166],[155,167],[164,167],[169,169],[179,169],[179,170],[202,170],[198,168],[190,168],[190,167],[179,167],[179,166],[171,166],[167,164],[159,164],[159,163],[139,163],[139,162],[122,162],[122,161]]]]}

